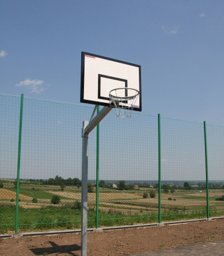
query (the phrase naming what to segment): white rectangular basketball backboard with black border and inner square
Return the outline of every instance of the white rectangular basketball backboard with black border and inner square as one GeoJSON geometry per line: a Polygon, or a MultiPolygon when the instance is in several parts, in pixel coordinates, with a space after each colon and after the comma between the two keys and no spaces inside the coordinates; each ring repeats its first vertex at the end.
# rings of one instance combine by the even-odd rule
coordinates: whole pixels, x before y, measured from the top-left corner
{"type": "Polygon", "coordinates": [[[109,92],[116,88],[137,89],[133,110],[142,111],[141,66],[82,52],[80,102],[110,106],[109,92]]]}

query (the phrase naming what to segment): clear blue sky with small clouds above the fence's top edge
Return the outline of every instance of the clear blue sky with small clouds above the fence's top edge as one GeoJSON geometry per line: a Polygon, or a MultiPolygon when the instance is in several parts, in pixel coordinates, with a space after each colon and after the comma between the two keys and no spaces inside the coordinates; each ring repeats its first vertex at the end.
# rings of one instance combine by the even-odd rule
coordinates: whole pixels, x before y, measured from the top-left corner
{"type": "Polygon", "coordinates": [[[0,1],[0,93],[80,102],[81,52],[141,65],[142,113],[224,126],[224,2],[0,1]]]}

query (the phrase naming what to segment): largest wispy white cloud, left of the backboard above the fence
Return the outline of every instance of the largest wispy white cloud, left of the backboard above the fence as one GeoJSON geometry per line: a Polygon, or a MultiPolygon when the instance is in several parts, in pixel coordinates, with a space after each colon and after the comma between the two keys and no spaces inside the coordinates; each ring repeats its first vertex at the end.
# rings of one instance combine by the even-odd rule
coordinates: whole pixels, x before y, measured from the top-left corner
{"type": "Polygon", "coordinates": [[[30,90],[30,93],[42,93],[44,90],[46,90],[45,86],[43,85],[43,80],[38,79],[26,79],[24,81],[21,81],[20,83],[16,84],[16,87],[25,87],[30,90]]]}

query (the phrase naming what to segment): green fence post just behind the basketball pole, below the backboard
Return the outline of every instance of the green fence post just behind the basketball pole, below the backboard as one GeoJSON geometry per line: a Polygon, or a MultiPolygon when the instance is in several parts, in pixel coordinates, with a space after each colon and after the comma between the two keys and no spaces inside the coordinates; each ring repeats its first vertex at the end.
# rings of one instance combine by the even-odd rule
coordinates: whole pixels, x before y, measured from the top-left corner
{"type": "MultiPolygon", "coordinates": [[[[100,112],[100,106],[97,106],[97,114],[100,112]]],[[[96,228],[99,228],[99,141],[100,124],[97,124],[96,134],[96,228]]]]}

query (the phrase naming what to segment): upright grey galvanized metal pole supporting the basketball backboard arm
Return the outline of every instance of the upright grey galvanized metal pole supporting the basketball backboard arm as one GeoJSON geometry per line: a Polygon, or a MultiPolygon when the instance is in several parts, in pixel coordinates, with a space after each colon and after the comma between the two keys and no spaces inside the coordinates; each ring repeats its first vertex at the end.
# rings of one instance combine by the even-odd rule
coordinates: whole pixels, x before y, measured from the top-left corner
{"type": "MultiPolygon", "coordinates": [[[[83,131],[88,121],[83,121],[83,131]]],[[[81,256],[87,256],[87,187],[88,187],[88,134],[82,131],[82,209],[81,256]]]]}

